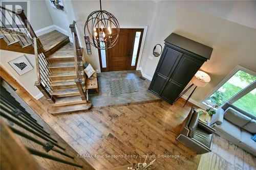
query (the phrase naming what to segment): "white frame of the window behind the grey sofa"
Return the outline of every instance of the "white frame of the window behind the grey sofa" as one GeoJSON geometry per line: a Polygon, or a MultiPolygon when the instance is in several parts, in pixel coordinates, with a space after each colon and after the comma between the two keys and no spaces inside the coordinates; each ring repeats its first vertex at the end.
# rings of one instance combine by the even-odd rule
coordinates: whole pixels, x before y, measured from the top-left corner
{"type": "MultiPolygon", "coordinates": [[[[207,102],[206,99],[209,98],[209,96],[211,96],[213,93],[215,93],[223,84],[225,84],[231,77],[234,76],[234,74],[236,74],[239,70],[242,70],[244,72],[247,72],[250,75],[256,76],[256,72],[252,71],[248,68],[245,68],[241,65],[237,65],[224,79],[222,79],[222,81],[214,88],[212,89],[207,95],[206,97],[202,100],[202,103],[206,106],[214,106],[211,103],[207,102]]],[[[244,89],[242,89],[241,91],[239,91],[237,94],[235,94],[234,96],[232,96],[232,98],[230,98],[227,102],[229,102],[230,104],[233,104],[234,102],[238,101],[239,99],[241,99],[244,95],[246,95],[247,93],[249,93],[251,90],[253,90],[254,88],[256,88],[256,81],[252,82],[251,84],[249,84],[247,87],[245,87],[244,89]]],[[[226,102],[225,102],[226,103],[226,102]]]]}

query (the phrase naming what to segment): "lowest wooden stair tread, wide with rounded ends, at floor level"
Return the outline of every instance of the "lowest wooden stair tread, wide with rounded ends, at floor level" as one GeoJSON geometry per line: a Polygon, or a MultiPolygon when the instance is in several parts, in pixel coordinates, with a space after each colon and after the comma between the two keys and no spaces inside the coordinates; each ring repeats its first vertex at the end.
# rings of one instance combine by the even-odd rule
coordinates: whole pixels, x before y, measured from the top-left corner
{"type": "Polygon", "coordinates": [[[47,111],[51,114],[61,114],[61,113],[71,113],[76,111],[86,111],[92,107],[91,102],[83,103],[83,104],[75,104],[68,106],[49,106],[47,111]]]}

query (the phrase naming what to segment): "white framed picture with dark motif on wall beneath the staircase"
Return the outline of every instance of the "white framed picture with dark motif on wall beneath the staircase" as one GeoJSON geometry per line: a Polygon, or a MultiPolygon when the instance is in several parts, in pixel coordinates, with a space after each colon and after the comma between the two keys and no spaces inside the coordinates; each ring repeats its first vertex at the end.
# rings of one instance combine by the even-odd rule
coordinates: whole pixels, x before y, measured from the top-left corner
{"type": "Polygon", "coordinates": [[[19,56],[8,62],[19,76],[33,69],[25,55],[19,56]]]}

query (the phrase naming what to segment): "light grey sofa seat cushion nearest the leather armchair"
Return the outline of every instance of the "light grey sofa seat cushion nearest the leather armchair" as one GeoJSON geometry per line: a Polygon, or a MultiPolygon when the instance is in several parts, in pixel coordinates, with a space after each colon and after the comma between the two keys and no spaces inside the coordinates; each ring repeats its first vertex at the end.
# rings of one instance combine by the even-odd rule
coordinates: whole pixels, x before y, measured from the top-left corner
{"type": "Polygon", "coordinates": [[[217,134],[220,132],[221,134],[233,139],[236,142],[241,141],[241,128],[228,122],[225,119],[223,119],[223,123],[220,125],[214,124],[214,129],[216,130],[217,134]]]}

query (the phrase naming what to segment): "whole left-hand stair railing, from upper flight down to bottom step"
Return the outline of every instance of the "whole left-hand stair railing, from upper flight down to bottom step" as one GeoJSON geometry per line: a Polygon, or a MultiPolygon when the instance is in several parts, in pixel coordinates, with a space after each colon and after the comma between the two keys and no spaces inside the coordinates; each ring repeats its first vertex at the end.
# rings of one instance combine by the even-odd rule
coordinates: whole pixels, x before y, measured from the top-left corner
{"type": "Polygon", "coordinates": [[[46,96],[50,103],[54,103],[55,100],[51,95],[49,62],[44,54],[44,47],[39,38],[37,38],[24,10],[12,11],[0,6],[0,11],[2,15],[1,38],[4,38],[7,44],[19,42],[22,47],[34,44],[33,53],[35,54],[37,71],[35,86],[46,96]]]}

